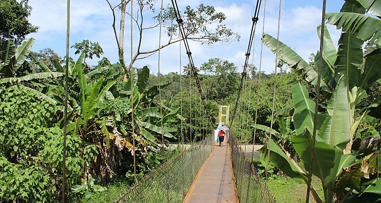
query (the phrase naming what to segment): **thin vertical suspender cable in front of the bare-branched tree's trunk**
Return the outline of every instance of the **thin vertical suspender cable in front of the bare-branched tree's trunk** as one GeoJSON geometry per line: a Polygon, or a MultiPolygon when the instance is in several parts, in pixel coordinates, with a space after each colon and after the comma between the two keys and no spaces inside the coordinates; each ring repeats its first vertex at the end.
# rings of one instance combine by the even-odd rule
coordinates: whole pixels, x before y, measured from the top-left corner
{"type": "MultiPolygon", "coordinates": [[[[133,145],[133,148],[134,150],[132,151],[133,152],[133,157],[134,157],[134,183],[135,183],[135,186],[134,186],[134,190],[136,192],[136,184],[138,182],[137,178],[136,178],[136,155],[135,155],[135,139],[136,139],[136,135],[135,135],[135,124],[134,124],[134,114],[135,114],[135,109],[134,109],[134,70],[133,70],[133,64],[134,64],[134,57],[133,57],[133,15],[134,15],[134,10],[133,10],[133,1],[134,0],[131,0],[131,67],[130,67],[130,79],[131,79],[131,125],[132,125],[132,145],[133,145]]],[[[124,64],[123,64],[124,65],[124,64]]]]}

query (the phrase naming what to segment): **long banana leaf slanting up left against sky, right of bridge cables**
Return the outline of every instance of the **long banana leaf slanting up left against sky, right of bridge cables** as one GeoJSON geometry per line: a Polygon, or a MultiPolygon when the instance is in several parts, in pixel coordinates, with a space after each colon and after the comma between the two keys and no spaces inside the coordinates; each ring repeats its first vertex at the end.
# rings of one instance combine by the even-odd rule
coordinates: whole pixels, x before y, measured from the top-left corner
{"type": "MultiPolygon", "coordinates": [[[[270,51],[275,53],[277,50],[277,39],[265,33],[263,34],[262,42],[270,49],[270,51]]],[[[316,71],[302,57],[281,41],[279,41],[278,57],[284,60],[291,68],[294,68],[297,71],[302,71],[305,74],[305,79],[309,83],[315,86],[317,85],[318,74],[316,71]]],[[[328,90],[327,85],[323,80],[321,81],[320,86],[323,90],[328,90]]]]}

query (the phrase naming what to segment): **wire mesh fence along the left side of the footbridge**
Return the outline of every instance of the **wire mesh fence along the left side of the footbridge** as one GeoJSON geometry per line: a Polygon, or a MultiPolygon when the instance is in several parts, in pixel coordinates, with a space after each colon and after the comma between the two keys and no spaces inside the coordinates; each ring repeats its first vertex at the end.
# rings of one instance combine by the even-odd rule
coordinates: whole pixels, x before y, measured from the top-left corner
{"type": "Polygon", "coordinates": [[[212,136],[195,143],[146,175],[116,203],[181,203],[213,146],[212,136]]]}

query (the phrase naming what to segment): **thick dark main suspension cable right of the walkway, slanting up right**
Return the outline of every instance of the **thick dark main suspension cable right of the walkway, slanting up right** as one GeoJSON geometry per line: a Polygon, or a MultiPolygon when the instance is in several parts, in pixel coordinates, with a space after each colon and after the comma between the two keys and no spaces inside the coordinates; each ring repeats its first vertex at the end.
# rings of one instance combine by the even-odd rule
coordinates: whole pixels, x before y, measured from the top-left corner
{"type": "Polygon", "coordinates": [[[242,85],[243,85],[243,77],[246,74],[246,68],[247,68],[248,61],[249,61],[251,47],[252,47],[252,44],[253,44],[253,41],[254,41],[254,33],[255,33],[257,22],[258,22],[258,19],[259,19],[258,15],[259,15],[259,10],[260,10],[260,7],[261,7],[261,3],[262,3],[262,0],[257,0],[257,4],[255,6],[254,16],[251,18],[252,24],[251,24],[249,43],[248,43],[248,46],[247,46],[247,51],[245,53],[246,58],[245,58],[245,63],[243,65],[242,77],[241,77],[241,82],[240,82],[239,88],[238,88],[238,95],[237,95],[236,105],[235,105],[234,111],[233,111],[233,117],[232,117],[231,126],[233,126],[234,119],[236,117],[236,111],[237,111],[237,107],[238,107],[238,101],[239,101],[239,97],[240,97],[240,93],[241,93],[241,89],[242,89],[242,85]]]}

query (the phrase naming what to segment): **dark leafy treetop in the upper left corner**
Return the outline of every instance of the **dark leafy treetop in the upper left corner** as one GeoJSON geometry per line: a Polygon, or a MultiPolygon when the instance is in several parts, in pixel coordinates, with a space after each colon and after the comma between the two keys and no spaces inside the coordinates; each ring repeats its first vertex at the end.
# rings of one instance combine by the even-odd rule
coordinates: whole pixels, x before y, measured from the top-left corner
{"type": "Polygon", "coordinates": [[[0,1],[0,44],[12,40],[19,45],[25,36],[37,32],[38,27],[28,21],[31,10],[28,0],[0,1]]]}

